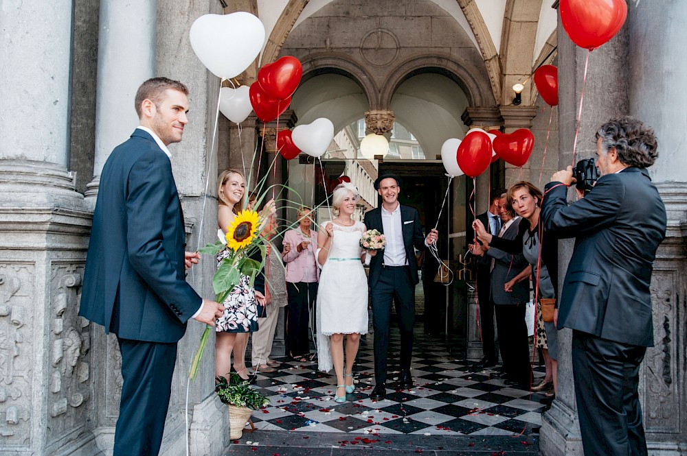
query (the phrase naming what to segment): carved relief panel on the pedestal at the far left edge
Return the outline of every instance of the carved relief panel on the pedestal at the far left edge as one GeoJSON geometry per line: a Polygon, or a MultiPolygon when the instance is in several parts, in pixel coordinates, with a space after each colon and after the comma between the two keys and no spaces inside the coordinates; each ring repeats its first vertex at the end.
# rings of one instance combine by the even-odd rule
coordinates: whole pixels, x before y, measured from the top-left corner
{"type": "Polygon", "coordinates": [[[0,263],[0,435],[16,448],[31,444],[33,283],[32,263],[0,263]]]}

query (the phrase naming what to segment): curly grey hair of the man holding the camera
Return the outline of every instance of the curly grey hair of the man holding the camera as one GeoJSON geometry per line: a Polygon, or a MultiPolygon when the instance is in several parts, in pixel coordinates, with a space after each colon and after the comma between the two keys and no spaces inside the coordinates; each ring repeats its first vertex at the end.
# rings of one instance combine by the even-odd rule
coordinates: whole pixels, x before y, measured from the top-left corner
{"type": "Polygon", "coordinates": [[[616,148],[623,165],[648,168],[658,157],[653,128],[633,117],[618,117],[604,123],[596,132],[596,139],[599,138],[606,153],[611,147],[616,148]]]}

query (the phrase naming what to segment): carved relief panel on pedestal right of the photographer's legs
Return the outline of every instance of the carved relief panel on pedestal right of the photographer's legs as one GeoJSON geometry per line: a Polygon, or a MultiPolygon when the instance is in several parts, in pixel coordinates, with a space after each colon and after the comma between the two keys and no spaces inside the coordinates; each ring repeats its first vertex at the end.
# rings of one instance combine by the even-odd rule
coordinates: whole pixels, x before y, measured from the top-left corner
{"type": "Polygon", "coordinates": [[[642,368],[645,385],[642,407],[648,432],[679,433],[679,395],[676,391],[676,359],[673,343],[675,327],[674,293],[677,290],[675,270],[654,269],[651,277],[651,300],[656,344],[646,350],[642,368]]]}

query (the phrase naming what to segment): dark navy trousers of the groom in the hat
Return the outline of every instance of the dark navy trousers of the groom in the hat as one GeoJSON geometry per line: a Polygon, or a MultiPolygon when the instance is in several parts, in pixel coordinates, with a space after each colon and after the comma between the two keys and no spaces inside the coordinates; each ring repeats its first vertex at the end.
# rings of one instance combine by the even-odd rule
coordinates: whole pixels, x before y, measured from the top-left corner
{"type": "Polygon", "coordinates": [[[374,328],[374,381],[386,383],[387,352],[392,301],[396,304],[398,329],[401,330],[401,369],[410,369],[415,323],[415,286],[407,266],[382,266],[379,280],[371,289],[372,327],[374,328]]]}

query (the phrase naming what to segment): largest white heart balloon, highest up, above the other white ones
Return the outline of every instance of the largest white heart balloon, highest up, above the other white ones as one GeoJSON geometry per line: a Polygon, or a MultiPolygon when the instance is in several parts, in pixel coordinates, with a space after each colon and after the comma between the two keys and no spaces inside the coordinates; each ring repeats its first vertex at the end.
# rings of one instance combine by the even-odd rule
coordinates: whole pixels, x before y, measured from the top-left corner
{"type": "Polygon", "coordinates": [[[249,12],[204,14],[188,32],[191,47],[203,65],[223,79],[243,73],[264,43],[264,26],[249,12]]]}

